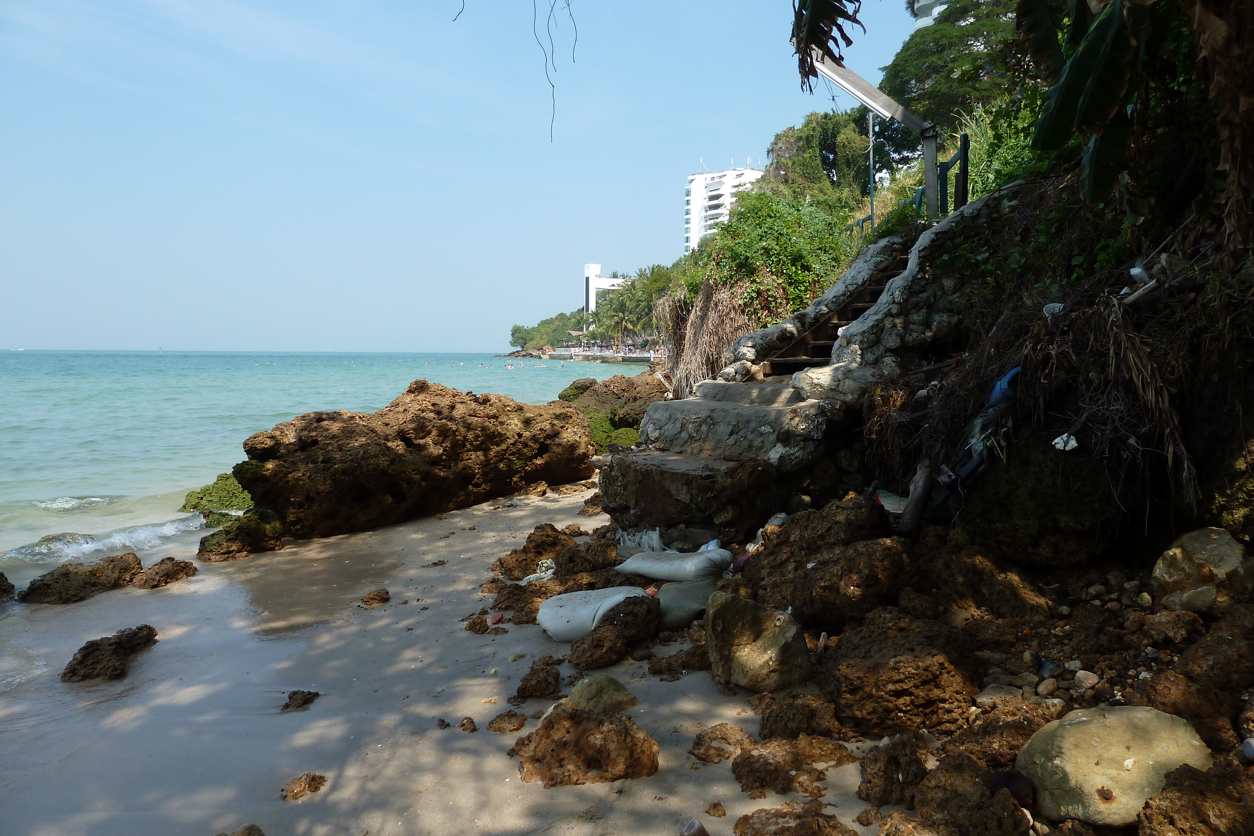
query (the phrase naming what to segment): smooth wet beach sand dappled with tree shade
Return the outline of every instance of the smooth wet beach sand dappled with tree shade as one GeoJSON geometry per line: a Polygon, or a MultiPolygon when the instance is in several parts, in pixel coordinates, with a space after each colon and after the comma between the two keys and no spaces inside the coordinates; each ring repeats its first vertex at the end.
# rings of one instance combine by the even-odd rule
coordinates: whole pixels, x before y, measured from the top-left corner
{"type": "MultiPolygon", "coordinates": [[[[494,501],[445,520],[291,541],[277,553],[199,564],[196,578],[158,590],[0,604],[0,642],[45,668],[0,692],[0,831],[212,836],[256,823],[267,836],[602,836],[677,833],[697,816],[719,836],[742,813],[801,800],[754,801],[729,762],[705,766],[687,753],[714,723],[756,736],[749,692],[722,696],[709,673],[661,682],[642,662],[604,672],[640,699],[627,713],[661,746],[657,775],[551,790],[520,782],[505,750],[538,722],[518,734],[494,734],[487,723],[510,708],[505,699],[537,656],[569,645],[537,625],[475,635],[459,619],[489,605],[479,584],[490,563],[539,523],[591,530],[607,521],[576,514],[586,496],[494,501]],[[435,560],[446,563],[424,568],[435,560]],[[390,604],[356,605],[379,587],[391,590],[390,604]],[[85,640],[143,623],[159,640],[133,658],[125,679],[59,681],[85,640]],[[281,713],[285,692],[297,688],[322,696],[281,713]],[[479,731],[436,727],[463,717],[479,731]],[[325,775],[326,787],[281,801],[282,785],[303,772],[325,775]],[[726,818],[705,815],[712,801],[726,818]]],[[[519,711],[549,704],[530,699],[519,711]]],[[[854,822],[867,806],[854,796],[858,768],[829,772],[824,801],[872,833],[878,827],[854,822]]]]}

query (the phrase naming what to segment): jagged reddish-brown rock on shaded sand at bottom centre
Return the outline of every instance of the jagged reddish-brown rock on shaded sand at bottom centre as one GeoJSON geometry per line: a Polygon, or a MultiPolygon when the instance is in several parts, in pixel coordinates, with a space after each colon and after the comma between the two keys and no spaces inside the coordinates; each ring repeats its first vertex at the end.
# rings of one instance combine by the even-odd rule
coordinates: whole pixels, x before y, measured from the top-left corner
{"type": "Polygon", "coordinates": [[[543,781],[548,788],[648,777],[657,772],[658,747],[626,714],[559,703],[508,755],[518,756],[523,781],[543,781]]]}

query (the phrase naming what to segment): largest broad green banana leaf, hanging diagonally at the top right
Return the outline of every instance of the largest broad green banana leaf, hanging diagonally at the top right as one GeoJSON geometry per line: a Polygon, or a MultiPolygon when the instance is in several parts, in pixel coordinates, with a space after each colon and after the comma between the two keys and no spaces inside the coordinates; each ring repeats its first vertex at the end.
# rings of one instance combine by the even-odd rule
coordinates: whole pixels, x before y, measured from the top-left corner
{"type": "Polygon", "coordinates": [[[1081,104],[1091,103],[1095,112],[1106,110],[1110,118],[1109,95],[1104,88],[1116,91],[1114,104],[1119,104],[1127,88],[1127,55],[1131,41],[1122,28],[1122,0],[1110,0],[1080,43],[1080,49],[1062,68],[1057,84],[1045,94],[1045,107],[1032,133],[1036,150],[1058,150],[1071,139],[1077,124],[1088,125],[1092,119],[1081,118],[1081,104]],[[1120,49],[1120,44],[1124,49],[1120,49]]]}

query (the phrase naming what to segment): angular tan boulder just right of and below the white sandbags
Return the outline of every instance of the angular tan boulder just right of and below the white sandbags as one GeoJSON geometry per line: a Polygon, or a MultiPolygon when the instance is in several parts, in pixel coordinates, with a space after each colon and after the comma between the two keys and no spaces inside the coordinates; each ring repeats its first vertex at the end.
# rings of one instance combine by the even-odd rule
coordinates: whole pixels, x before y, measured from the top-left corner
{"type": "Polygon", "coordinates": [[[810,678],[810,649],[788,613],[716,592],[705,620],[716,677],[757,692],[794,688],[810,678]]]}

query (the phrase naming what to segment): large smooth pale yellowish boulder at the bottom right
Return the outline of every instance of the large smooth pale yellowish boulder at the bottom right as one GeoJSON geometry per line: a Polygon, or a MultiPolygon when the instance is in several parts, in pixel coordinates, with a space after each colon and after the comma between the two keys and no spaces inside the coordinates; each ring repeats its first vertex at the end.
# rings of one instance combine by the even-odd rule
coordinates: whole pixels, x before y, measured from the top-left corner
{"type": "Polygon", "coordinates": [[[1132,706],[1073,711],[1033,734],[1014,762],[1046,816],[1109,827],[1135,822],[1162,791],[1166,773],[1181,765],[1210,768],[1210,752],[1193,727],[1132,706]]]}

